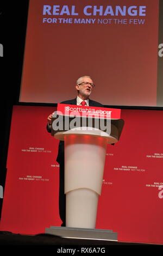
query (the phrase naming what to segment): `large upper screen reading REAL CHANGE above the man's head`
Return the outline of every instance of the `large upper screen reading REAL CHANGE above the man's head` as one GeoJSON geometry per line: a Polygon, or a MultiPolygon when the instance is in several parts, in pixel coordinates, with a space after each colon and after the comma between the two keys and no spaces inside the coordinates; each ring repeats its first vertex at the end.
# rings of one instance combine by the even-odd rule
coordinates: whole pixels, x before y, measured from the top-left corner
{"type": "Polygon", "coordinates": [[[75,97],[76,80],[89,75],[96,84],[93,100],[104,105],[156,106],[158,21],[159,0],[30,0],[20,101],[59,103],[67,100],[65,95],[75,97]],[[58,15],[53,15],[54,4],[59,5],[58,15]],[[49,15],[43,15],[43,5],[51,7],[49,15]],[[64,5],[70,15],[60,15],[64,5]],[[71,15],[72,5],[78,15],[71,15]],[[87,5],[92,6],[88,16],[87,5]],[[103,7],[102,15],[92,15],[94,5],[103,7]],[[108,5],[112,12],[104,15],[108,5]],[[117,5],[126,7],[126,15],[116,15],[117,5]],[[128,8],[135,5],[137,15],[129,15],[128,8]],[[139,15],[140,6],[145,7],[145,16],[139,15]],[[43,22],[44,18],[57,23],[43,22]],[[108,19],[111,23],[106,23],[108,19]]]}

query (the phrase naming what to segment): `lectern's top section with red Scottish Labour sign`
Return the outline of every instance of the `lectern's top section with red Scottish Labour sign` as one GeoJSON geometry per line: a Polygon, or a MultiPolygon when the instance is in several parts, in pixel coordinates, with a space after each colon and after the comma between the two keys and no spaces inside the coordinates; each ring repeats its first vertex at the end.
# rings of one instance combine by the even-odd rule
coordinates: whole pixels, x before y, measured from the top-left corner
{"type": "Polygon", "coordinates": [[[68,135],[90,135],[116,143],[124,126],[120,117],[121,109],[59,104],[52,117],[51,134],[61,141],[68,135]]]}

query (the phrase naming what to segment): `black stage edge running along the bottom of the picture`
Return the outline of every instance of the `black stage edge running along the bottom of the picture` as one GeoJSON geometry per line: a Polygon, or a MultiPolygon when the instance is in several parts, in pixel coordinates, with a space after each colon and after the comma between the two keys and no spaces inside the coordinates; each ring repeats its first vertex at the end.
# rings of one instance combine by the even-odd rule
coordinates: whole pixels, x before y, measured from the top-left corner
{"type": "MultiPolygon", "coordinates": [[[[53,246],[56,250],[63,248],[77,247],[83,248],[107,248],[108,246],[162,246],[151,243],[136,243],[136,242],[120,242],[120,241],[105,241],[94,239],[73,239],[64,238],[51,234],[36,234],[23,235],[15,234],[10,231],[0,231],[0,247],[2,246],[53,246]]],[[[63,252],[63,251],[62,251],[63,252]]],[[[91,251],[90,251],[91,253],[91,251]]]]}

